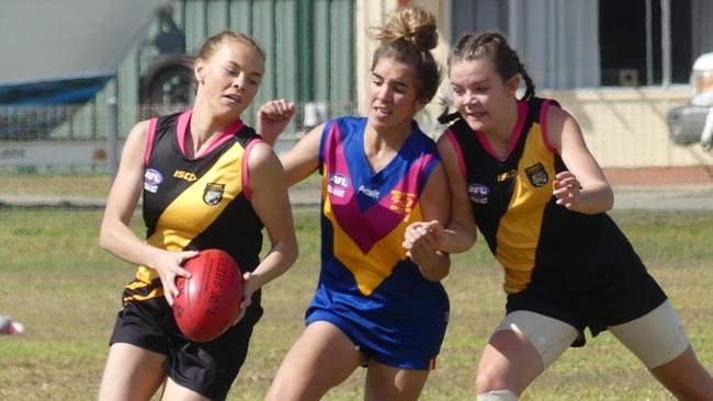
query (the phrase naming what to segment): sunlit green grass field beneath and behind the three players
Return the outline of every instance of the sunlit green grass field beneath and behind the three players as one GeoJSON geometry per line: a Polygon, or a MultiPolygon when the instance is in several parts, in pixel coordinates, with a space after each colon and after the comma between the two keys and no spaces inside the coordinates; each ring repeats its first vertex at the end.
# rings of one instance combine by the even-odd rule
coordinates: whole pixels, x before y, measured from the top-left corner
{"type": "MultiPolygon", "coordinates": [[[[295,210],[301,259],[264,290],[265,316],[230,400],[261,400],[303,328],[318,274],[317,216],[316,209],[295,210]]],[[[613,216],[713,369],[713,213],[613,216]]],[[[26,326],[22,336],[0,336],[0,399],[95,398],[121,290],[134,274],[134,266],[99,249],[100,219],[97,210],[0,209],[0,314],[26,326]]],[[[501,270],[484,243],[453,260],[444,280],[451,323],[422,400],[474,399],[477,359],[503,310],[501,270]]],[[[557,360],[523,399],[672,400],[613,336],[589,340],[557,360]]],[[[325,399],[360,400],[363,374],[360,369],[325,399]]]]}

